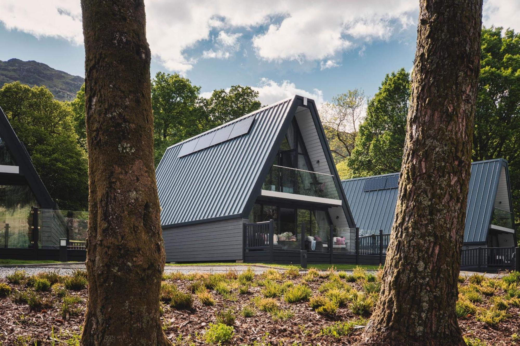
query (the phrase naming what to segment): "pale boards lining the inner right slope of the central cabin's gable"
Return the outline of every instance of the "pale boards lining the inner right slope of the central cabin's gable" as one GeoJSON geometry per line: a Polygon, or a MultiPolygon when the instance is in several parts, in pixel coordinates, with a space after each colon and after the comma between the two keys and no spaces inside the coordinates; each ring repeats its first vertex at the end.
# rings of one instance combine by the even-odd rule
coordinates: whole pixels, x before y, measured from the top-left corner
{"type": "MultiPolygon", "coordinates": [[[[327,158],[325,156],[325,152],[323,151],[320,138],[318,136],[316,125],[314,124],[313,117],[310,114],[310,110],[305,107],[298,107],[296,109],[295,117],[296,122],[298,123],[298,127],[300,127],[300,131],[302,132],[302,138],[305,143],[305,148],[307,149],[307,153],[309,154],[309,159],[311,164],[313,165],[314,171],[324,174],[332,174],[327,163],[327,158]]],[[[336,189],[336,187],[334,184],[329,184],[327,189],[336,189]]],[[[339,191],[338,193],[341,193],[341,191],[339,191]]],[[[345,229],[349,228],[348,221],[345,216],[345,212],[343,211],[343,208],[329,208],[329,214],[334,226],[345,229]],[[336,219],[336,217],[339,218],[336,219]]]]}

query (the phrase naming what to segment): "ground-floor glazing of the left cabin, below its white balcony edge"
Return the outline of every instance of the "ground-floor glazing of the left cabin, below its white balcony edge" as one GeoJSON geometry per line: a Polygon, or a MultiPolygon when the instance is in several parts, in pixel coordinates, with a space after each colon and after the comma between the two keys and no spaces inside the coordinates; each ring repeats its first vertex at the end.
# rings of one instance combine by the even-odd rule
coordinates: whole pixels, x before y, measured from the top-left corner
{"type": "Polygon", "coordinates": [[[36,199],[27,185],[0,185],[0,247],[32,246],[32,214],[36,199]]]}

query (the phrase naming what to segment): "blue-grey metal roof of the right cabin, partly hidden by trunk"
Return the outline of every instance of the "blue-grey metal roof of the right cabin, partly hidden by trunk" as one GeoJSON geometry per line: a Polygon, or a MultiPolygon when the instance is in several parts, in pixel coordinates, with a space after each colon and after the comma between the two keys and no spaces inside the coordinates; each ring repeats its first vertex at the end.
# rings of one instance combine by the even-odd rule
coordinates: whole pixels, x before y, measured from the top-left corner
{"type": "MultiPolygon", "coordinates": [[[[502,167],[505,167],[509,190],[507,161],[498,158],[471,164],[464,243],[486,243],[502,167]]],[[[383,180],[393,181],[398,179],[398,177],[399,173],[392,173],[342,181],[350,210],[352,210],[360,234],[373,234],[379,232],[379,230],[383,230],[384,233],[390,233],[394,223],[398,189],[364,190],[367,190],[365,189],[367,182],[369,182],[369,187],[375,187],[376,185],[384,185],[377,182],[382,182],[383,180]]],[[[509,195],[511,196],[511,192],[509,195]]]]}

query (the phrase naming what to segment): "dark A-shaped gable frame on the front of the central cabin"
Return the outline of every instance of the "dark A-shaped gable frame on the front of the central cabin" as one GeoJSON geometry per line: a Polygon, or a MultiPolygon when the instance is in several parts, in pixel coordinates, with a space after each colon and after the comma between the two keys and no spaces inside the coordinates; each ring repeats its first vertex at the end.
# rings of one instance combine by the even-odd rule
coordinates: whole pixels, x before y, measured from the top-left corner
{"type": "Polygon", "coordinates": [[[331,217],[337,217],[340,219],[340,221],[343,219],[342,223],[345,227],[355,228],[354,218],[348,206],[345,192],[342,188],[341,180],[336,170],[329,144],[318,116],[316,104],[313,100],[297,95],[294,97],[293,103],[289,113],[284,119],[283,125],[279,128],[274,145],[272,145],[270,149],[268,158],[262,167],[261,174],[259,174],[254,188],[251,190],[251,193],[248,197],[248,202],[246,203],[241,216],[243,218],[247,218],[249,216],[256,198],[261,193],[262,185],[268,175],[271,164],[275,161],[278,150],[284,140],[285,134],[287,134],[293,118],[296,118],[297,125],[300,127],[302,132],[303,141],[306,143],[308,155],[313,164],[313,170],[319,173],[330,174],[333,176],[334,187],[342,201],[341,211],[343,212],[340,211],[340,208],[331,208],[332,210],[329,211],[331,217]],[[310,149],[308,148],[308,144],[310,143],[314,143],[316,145],[312,145],[312,149],[310,149]]]}

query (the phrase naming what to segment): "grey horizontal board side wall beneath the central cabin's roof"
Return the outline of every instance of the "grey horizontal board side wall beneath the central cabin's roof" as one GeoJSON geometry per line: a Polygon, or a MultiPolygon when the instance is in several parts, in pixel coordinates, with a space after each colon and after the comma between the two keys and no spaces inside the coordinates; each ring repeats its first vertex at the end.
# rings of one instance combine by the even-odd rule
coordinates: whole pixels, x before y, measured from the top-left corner
{"type": "Polygon", "coordinates": [[[242,218],[163,229],[166,262],[242,259],[242,218]]]}

